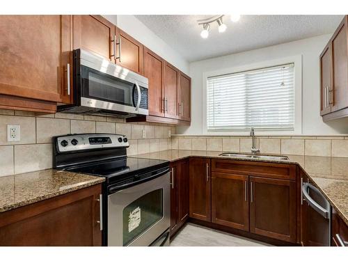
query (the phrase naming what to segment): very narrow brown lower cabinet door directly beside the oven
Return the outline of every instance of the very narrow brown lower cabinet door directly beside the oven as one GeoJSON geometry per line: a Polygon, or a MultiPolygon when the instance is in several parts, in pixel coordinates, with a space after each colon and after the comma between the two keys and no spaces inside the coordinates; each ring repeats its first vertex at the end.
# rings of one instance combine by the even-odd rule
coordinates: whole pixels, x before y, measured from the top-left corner
{"type": "Polygon", "coordinates": [[[171,234],[178,226],[177,163],[171,163],[171,234]]]}

